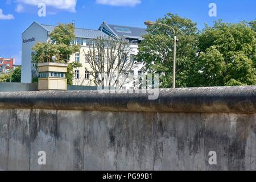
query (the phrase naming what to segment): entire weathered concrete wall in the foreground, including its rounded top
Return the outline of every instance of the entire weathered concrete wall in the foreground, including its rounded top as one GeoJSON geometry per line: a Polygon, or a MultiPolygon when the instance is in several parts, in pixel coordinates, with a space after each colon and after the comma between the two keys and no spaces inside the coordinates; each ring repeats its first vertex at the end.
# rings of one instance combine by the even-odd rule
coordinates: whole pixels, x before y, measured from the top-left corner
{"type": "Polygon", "coordinates": [[[0,170],[255,170],[256,86],[0,93],[0,146],[0,170]]]}

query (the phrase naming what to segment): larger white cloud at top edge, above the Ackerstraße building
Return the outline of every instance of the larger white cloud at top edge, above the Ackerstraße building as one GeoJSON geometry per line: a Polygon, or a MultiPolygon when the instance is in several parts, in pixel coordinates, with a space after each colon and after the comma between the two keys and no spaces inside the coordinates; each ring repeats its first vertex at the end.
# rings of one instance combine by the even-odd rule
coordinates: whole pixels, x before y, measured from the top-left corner
{"type": "Polygon", "coordinates": [[[77,0],[17,0],[16,2],[34,6],[38,6],[39,3],[45,3],[46,6],[51,6],[56,9],[76,12],[77,0]]]}

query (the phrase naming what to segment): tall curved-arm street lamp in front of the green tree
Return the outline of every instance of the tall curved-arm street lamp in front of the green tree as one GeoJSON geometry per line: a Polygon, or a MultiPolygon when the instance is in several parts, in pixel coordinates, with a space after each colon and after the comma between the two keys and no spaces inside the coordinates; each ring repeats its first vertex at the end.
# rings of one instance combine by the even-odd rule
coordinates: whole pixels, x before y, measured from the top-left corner
{"type": "Polygon", "coordinates": [[[174,28],[172,28],[171,26],[168,26],[167,24],[158,23],[158,22],[151,22],[151,21],[146,21],[146,22],[144,22],[144,24],[146,24],[146,26],[153,26],[155,24],[160,24],[164,27],[171,28],[171,30],[174,31],[174,71],[173,71],[174,75],[173,75],[172,88],[176,88],[176,43],[177,43],[176,32],[175,32],[174,28]]]}

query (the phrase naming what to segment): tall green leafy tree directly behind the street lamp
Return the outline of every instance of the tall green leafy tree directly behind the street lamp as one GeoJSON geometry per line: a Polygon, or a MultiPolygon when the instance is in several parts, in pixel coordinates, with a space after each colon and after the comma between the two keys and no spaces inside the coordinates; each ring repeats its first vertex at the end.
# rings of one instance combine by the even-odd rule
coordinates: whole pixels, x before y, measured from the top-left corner
{"type": "MultiPolygon", "coordinates": [[[[197,36],[199,30],[196,23],[187,18],[168,13],[164,18],[156,20],[167,24],[176,31],[177,43],[176,85],[179,87],[191,86],[189,80],[193,79],[197,36]]],[[[160,87],[172,86],[174,34],[170,28],[155,24],[147,28],[148,34],[139,45],[137,59],[145,63],[146,71],[158,73],[160,87]]]]}

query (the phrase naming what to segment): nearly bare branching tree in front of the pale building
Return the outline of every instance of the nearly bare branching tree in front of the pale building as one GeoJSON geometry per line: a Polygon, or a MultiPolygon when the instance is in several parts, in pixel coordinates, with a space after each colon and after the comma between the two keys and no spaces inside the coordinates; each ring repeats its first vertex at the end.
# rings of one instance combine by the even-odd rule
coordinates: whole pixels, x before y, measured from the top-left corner
{"type": "Polygon", "coordinates": [[[130,59],[131,48],[125,39],[111,37],[97,38],[87,52],[85,61],[92,68],[87,69],[97,86],[118,87],[127,82],[135,60],[130,59]]]}

